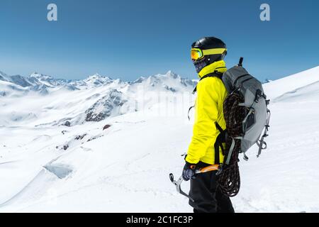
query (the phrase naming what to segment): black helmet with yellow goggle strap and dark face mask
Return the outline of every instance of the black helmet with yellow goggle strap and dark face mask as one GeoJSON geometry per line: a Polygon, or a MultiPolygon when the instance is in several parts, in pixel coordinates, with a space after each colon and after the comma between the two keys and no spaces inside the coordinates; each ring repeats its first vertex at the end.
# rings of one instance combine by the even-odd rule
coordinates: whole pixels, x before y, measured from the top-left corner
{"type": "Polygon", "coordinates": [[[203,67],[206,67],[207,65],[211,65],[213,62],[217,62],[220,60],[223,60],[225,58],[225,55],[227,55],[227,47],[225,43],[220,40],[219,38],[215,37],[204,37],[200,40],[197,40],[195,43],[191,45],[192,50],[198,49],[198,51],[201,51],[201,57],[199,59],[193,59],[194,65],[196,67],[196,72],[199,73],[203,69],[203,67]],[[214,52],[214,49],[218,50],[217,52],[214,52]],[[203,53],[205,50],[212,50],[212,54],[206,54],[203,53]]]}

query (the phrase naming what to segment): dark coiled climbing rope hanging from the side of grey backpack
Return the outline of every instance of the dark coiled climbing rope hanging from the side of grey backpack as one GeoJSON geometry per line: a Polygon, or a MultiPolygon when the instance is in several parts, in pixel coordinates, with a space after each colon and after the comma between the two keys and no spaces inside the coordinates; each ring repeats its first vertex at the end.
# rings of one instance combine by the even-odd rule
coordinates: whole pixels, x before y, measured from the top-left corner
{"type": "Polygon", "coordinates": [[[237,93],[227,96],[223,104],[224,118],[228,137],[226,138],[225,160],[228,157],[230,145],[235,140],[235,147],[230,157],[228,165],[223,164],[222,171],[218,175],[218,185],[221,192],[226,196],[236,196],[240,190],[240,170],[238,166],[238,155],[240,153],[241,140],[235,139],[242,137],[242,121],[244,120],[247,110],[245,106],[239,106],[244,102],[244,98],[237,93]]]}

